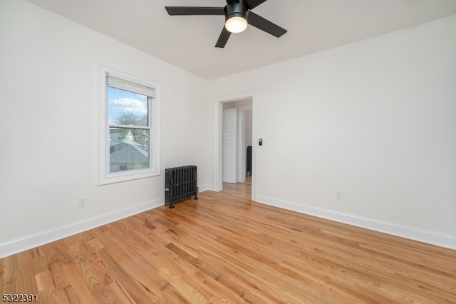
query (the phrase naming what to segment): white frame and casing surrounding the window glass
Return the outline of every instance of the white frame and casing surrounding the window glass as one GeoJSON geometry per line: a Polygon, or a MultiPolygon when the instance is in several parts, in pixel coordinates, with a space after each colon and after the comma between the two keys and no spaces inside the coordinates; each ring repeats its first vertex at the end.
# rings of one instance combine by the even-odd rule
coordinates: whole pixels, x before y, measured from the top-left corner
{"type": "Polygon", "coordinates": [[[160,85],[123,71],[98,65],[98,185],[132,181],[160,175],[160,85]],[[109,124],[108,124],[108,83],[106,75],[132,81],[143,86],[155,88],[155,97],[149,103],[150,124],[150,168],[117,171],[110,173],[109,164],[109,124]]]}

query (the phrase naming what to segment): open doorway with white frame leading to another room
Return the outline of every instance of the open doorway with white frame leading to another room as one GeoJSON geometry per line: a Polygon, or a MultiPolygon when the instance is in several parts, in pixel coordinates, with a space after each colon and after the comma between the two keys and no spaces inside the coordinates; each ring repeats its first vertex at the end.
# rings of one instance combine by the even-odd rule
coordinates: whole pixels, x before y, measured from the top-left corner
{"type": "Polygon", "coordinates": [[[254,97],[249,95],[220,100],[216,110],[216,125],[218,126],[215,164],[216,191],[222,191],[224,182],[246,183],[247,178],[246,184],[251,185],[252,201],[255,201],[254,97]],[[229,128],[224,126],[227,122],[229,128]],[[251,147],[249,154],[252,159],[249,176],[247,176],[248,146],[251,147]]]}

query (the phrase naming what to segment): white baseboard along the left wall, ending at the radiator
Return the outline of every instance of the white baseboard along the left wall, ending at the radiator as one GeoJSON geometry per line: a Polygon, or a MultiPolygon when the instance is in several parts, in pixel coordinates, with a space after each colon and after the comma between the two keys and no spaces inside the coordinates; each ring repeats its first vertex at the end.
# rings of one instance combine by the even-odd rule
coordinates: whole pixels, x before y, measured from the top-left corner
{"type": "Polygon", "coordinates": [[[113,221],[118,221],[122,218],[127,218],[128,216],[133,216],[152,208],[157,208],[158,206],[162,206],[164,203],[165,198],[159,198],[155,201],[148,201],[145,203],[140,203],[136,206],[129,206],[127,208],[103,213],[100,216],[87,218],[83,221],[43,230],[38,233],[26,235],[23,238],[17,238],[15,240],[9,240],[7,242],[0,243],[0,258],[4,258],[15,253],[20,253],[24,250],[35,248],[39,245],[51,243],[55,240],[60,240],[62,238],[66,238],[70,235],[75,235],[76,233],[81,233],[92,228],[103,226],[107,223],[112,223],[113,221]]]}

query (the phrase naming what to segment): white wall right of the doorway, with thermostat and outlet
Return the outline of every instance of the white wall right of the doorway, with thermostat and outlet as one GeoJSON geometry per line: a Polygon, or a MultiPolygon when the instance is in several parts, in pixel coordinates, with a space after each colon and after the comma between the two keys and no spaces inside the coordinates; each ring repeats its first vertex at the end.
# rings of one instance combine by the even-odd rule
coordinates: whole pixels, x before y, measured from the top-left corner
{"type": "Polygon", "coordinates": [[[253,92],[257,201],[456,248],[455,37],[452,16],[210,81],[209,155],[218,101],[253,92]]]}

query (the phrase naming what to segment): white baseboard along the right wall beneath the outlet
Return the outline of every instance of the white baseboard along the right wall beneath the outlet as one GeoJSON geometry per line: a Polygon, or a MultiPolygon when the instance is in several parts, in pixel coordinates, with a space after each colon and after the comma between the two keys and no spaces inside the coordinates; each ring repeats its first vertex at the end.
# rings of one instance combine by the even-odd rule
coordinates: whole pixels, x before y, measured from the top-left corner
{"type": "Polygon", "coordinates": [[[316,216],[318,218],[326,218],[331,221],[337,221],[352,226],[358,226],[361,228],[375,230],[382,233],[388,233],[390,235],[396,235],[402,238],[408,238],[410,240],[418,240],[423,243],[428,243],[450,249],[456,249],[456,236],[454,235],[445,235],[442,233],[436,233],[434,231],[411,228],[393,223],[387,223],[384,221],[378,221],[372,218],[353,216],[347,213],[340,213],[323,208],[316,208],[314,206],[306,206],[299,203],[280,200],[278,198],[257,196],[257,202],[264,203],[269,206],[287,209],[290,211],[305,213],[310,216],[316,216]]]}

